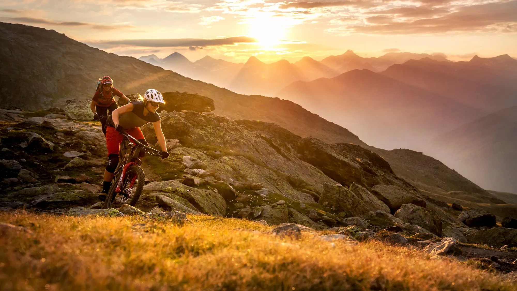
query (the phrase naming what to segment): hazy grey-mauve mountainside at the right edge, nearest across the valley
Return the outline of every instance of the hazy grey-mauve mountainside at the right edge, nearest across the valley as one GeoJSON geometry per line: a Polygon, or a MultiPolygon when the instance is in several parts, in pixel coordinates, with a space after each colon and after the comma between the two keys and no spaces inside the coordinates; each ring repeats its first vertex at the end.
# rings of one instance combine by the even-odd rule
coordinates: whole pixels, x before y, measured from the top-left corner
{"type": "Polygon", "coordinates": [[[484,188],[517,193],[517,106],[438,136],[427,152],[484,188]]]}

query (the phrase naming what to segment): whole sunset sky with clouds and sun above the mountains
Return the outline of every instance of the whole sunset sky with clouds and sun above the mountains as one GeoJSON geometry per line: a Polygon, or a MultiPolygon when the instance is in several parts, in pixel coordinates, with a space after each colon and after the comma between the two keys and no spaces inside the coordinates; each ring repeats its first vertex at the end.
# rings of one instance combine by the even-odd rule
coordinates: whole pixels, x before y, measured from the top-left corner
{"type": "Polygon", "coordinates": [[[517,0],[5,0],[0,21],[53,29],[120,55],[177,51],[191,61],[321,60],[347,49],[517,57],[517,0]]]}

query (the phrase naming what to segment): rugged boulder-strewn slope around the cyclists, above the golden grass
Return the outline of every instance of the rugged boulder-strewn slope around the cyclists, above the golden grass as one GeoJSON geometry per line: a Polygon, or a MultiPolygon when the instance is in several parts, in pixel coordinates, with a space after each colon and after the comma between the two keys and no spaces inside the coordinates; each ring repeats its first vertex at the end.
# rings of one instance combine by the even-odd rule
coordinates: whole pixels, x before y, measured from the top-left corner
{"type": "MultiPolygon", "coordinates": [[[[290,227],[329,229],[333,239],[342,236],[354,243],[380,239],[460,260],[466,256],[482,261],[487,254],[497,254],[492,268],[516,269],[511,264],[516,258],[513,249],[486,250],[465,244],[517,246],[515,229],[494,228],[495,217],[483,211],[451,212],[397,177],[370,150],[348,143],[327,144],[275,124],[234,121],[210,112],[161,114],[165,136],[177,139],[168,140],[168,159],[144,158],[148,182],[138,209],[117,203],[118,211],[80,208],[102,206],[94,203],[105,150],[98,123],[65,117],[71,104],[65,112],[1,111],[2,210],[126,213],[156,219],[171,215],[175,219],[179,214],[170,213],[181,211],[270,225],[295,223],[298,226],[290,227]],[[461,214],[456,219],[451,213],[461,214]],[[494,231],[496,241],[491,239],[494,231]]],[[[150,126],[143,132],[151,144],[156,141],[150,126]]]]}

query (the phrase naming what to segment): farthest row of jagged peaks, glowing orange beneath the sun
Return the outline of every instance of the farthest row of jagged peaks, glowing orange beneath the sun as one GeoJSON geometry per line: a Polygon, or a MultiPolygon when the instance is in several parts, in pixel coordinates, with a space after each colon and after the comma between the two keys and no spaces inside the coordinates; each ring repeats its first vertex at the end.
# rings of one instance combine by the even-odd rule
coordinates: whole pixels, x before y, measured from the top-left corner
{"type": "Polygon", "coordinates": [[[151,54],[142,56],[139,60],[240,94],[274,96],[279,90],[295,81],[332,78],[354,69],[382,71],[393,64],[420,60],[424,57],[450,62],[439,54],[400,52],[387,53],[380,57],[361,57],[351,50],[341,55],[328,56],[321,62],[306,56],[294,64],[286,60],[266,64],[254,56],[251,56],[245,64],[216,60],[210,56],[191,62],[178,52],[170,54],[165,59],[151,54]]]}

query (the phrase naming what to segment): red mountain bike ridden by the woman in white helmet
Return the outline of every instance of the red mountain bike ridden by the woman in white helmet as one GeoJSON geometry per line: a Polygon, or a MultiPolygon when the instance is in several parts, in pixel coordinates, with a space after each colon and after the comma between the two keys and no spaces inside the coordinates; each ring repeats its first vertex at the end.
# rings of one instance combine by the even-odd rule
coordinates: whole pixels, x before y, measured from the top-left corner
{"type": "Polygon", "coordinates": [[[142,160],[139,158],[139,154],[145,151],[151,155],[160,156],[161,153],[147,147],[125,132],[120,134],[124,136],[121,143],[123,148],[120,150],[120,162],[115,169],[113,182],[104,202],[105,209],[112,207],[114,203],[127,203],[127,201],[129,201],[129,205],[135,206],[144,188],[145,179],[144,170],[140,167],[142,160]]]}

